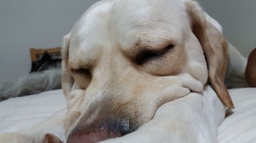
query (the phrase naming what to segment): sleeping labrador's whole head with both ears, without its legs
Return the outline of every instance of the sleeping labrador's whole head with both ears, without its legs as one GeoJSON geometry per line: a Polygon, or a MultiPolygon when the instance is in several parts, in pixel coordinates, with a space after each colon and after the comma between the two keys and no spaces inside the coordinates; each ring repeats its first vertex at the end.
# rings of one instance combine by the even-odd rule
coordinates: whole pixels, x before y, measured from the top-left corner
{"type": "Polygon", "coordinates": [[[193,1],[101,1],[63,40],[68,142],[121,136],[159,106],[212,85],[223,103],[226,41],[193,1]],[[207,62],[206,62],[207,61],[207,62]]]}

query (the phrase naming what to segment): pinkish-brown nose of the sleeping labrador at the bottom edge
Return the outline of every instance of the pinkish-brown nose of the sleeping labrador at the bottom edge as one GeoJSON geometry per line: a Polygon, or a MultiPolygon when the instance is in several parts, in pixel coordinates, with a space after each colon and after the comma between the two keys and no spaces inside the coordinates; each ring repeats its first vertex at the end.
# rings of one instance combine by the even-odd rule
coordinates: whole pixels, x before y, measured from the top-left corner
{"type": "Polygon", "coordinates": [[[122,136],[121,133],[117,133],[110,130],[96,130],[90,132],[79,132],[71,135],[67,143],[95,143],[103,141],[109,138],[116,138],[122,136]]]}

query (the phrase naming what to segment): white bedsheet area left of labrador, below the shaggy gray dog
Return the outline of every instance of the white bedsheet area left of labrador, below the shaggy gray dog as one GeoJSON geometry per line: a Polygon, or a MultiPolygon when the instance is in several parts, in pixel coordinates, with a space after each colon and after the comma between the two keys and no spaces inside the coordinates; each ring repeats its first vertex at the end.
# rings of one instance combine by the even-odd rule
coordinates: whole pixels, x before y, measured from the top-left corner
{"type": "Polygon", "coordinates": [[[62,90],[0,102],[0,134],[30,129],[65,107],[62,90]]]}

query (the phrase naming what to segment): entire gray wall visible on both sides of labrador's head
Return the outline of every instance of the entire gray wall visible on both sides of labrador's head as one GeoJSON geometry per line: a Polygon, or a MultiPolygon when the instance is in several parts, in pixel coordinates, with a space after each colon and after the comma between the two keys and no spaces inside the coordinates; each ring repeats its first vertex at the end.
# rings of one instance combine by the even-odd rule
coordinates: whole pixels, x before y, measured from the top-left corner
{"type": "MultiPolygon", "coordinates": [[[[255,0],[198,0],[244,56],[256,47],[255,0]]],[[[61,38],[97,0],[5,0],[0,2],[0,83],[30,70],[30,47],[61,46],[61,38]]]]}

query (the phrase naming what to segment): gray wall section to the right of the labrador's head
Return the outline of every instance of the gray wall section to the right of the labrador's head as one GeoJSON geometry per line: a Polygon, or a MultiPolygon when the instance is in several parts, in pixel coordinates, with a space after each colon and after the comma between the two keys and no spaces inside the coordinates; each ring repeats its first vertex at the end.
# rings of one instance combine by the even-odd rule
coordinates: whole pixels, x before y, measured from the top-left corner
{"type": "Polygon", "coordinates": [[[198,0],[223,27],[226,39],[244,55],[256,47],[255,0],[198,0]]]}

